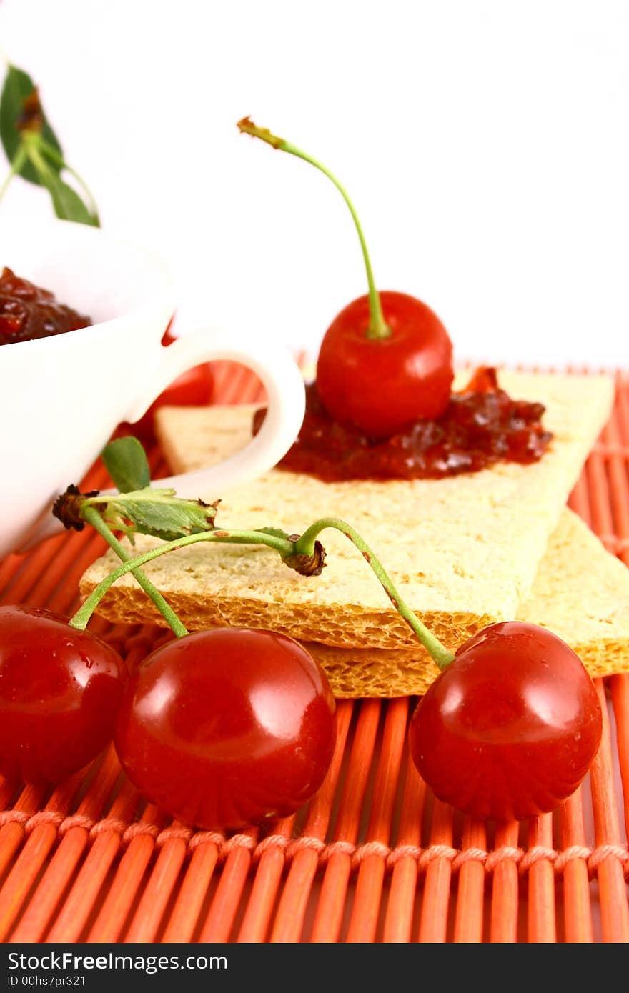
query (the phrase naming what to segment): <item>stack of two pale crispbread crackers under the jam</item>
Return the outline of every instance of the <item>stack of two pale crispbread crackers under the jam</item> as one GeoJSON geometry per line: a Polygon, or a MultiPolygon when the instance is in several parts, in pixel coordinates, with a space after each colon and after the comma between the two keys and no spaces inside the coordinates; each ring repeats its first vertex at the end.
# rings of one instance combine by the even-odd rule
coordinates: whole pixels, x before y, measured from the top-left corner
{"type": "MultiPolygon", "coordinates": [[[[565,502],[607,420],[608,376],[501,370],[513,397],[544,403],[553,434],[532,465],[501,463],[446,480],[326,484],[282,470],[221,498],[224,527],[302,532],[339,516],[380,557],[406,603],[451,649],[494,621],[519,618],[570,643],[592,674],[629,669],[629,570],[565,502]]],[[[219,462],[250,437],[251,406],[163,408],[157,431],[174,472],[219,462]]],[[[204,542],[146,572],[190,630],[245,625],[306,643],[339,697],[422,693],[437,673],[362,554],[326,530],[318,577],[289,570],[261,546],[204,542]]],[[[136,539],[136,549],[153,544],[136,539]]],[[[112,553],[81,580],[86,595],[115,566],[112,553]]],[[[101,601],[112,621],[164,623],[130,576],[101,601]]]]}

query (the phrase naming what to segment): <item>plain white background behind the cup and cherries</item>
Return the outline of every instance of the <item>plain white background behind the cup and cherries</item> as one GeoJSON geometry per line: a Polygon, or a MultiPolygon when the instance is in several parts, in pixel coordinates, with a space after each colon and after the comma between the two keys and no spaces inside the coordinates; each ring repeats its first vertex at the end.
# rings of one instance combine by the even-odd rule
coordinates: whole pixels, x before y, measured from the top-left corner
{"type": "MultiPolygon", "coordinates": [[[[0,0],[103,226],[179,274],[181,333],[314,352],[366,290],[339,194],[250,114],[337,174],[378,285],[460,358],[559,365],[629,365],[628,28],[623,0],[0,0]]],[[[16,181],[0,223],[50,210],[16,181]]]]}

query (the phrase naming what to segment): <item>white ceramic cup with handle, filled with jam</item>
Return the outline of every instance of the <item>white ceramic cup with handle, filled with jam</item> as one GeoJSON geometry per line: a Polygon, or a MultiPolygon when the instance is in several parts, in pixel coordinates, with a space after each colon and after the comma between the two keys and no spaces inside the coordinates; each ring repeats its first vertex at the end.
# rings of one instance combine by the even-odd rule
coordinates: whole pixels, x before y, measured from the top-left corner
{"type": "Polygon", "coordinates": [[[0,223],[0,267],[52,290],[91,326],[0,346],[0,557],[61,528],[52,501],[83,474],[121,421],[135,422],[186,369],[234,359],[257,373],[268,414],[221,465],[160,481],[182,497],[219,498],[274,466],[298,434],[304,387],[289,351],[263,327],[203,328],[168,348],[177,299],[163,260],[69,221],[0,223]]]}

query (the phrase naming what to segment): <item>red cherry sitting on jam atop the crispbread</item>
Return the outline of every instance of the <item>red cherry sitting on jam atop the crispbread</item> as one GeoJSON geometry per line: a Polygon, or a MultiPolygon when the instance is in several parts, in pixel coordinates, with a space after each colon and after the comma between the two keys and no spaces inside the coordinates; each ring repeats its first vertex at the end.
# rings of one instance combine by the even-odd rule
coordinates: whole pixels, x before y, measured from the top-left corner
{"type": "Polygon", "coordinates": [[[369,338],[370,299],[349,304],[328,328],[317,361],[317,389],[328,412],[372,438],[445,410],[454,376],[452,343],[425,304],[380,293],[391,335],[369,338]]]}

